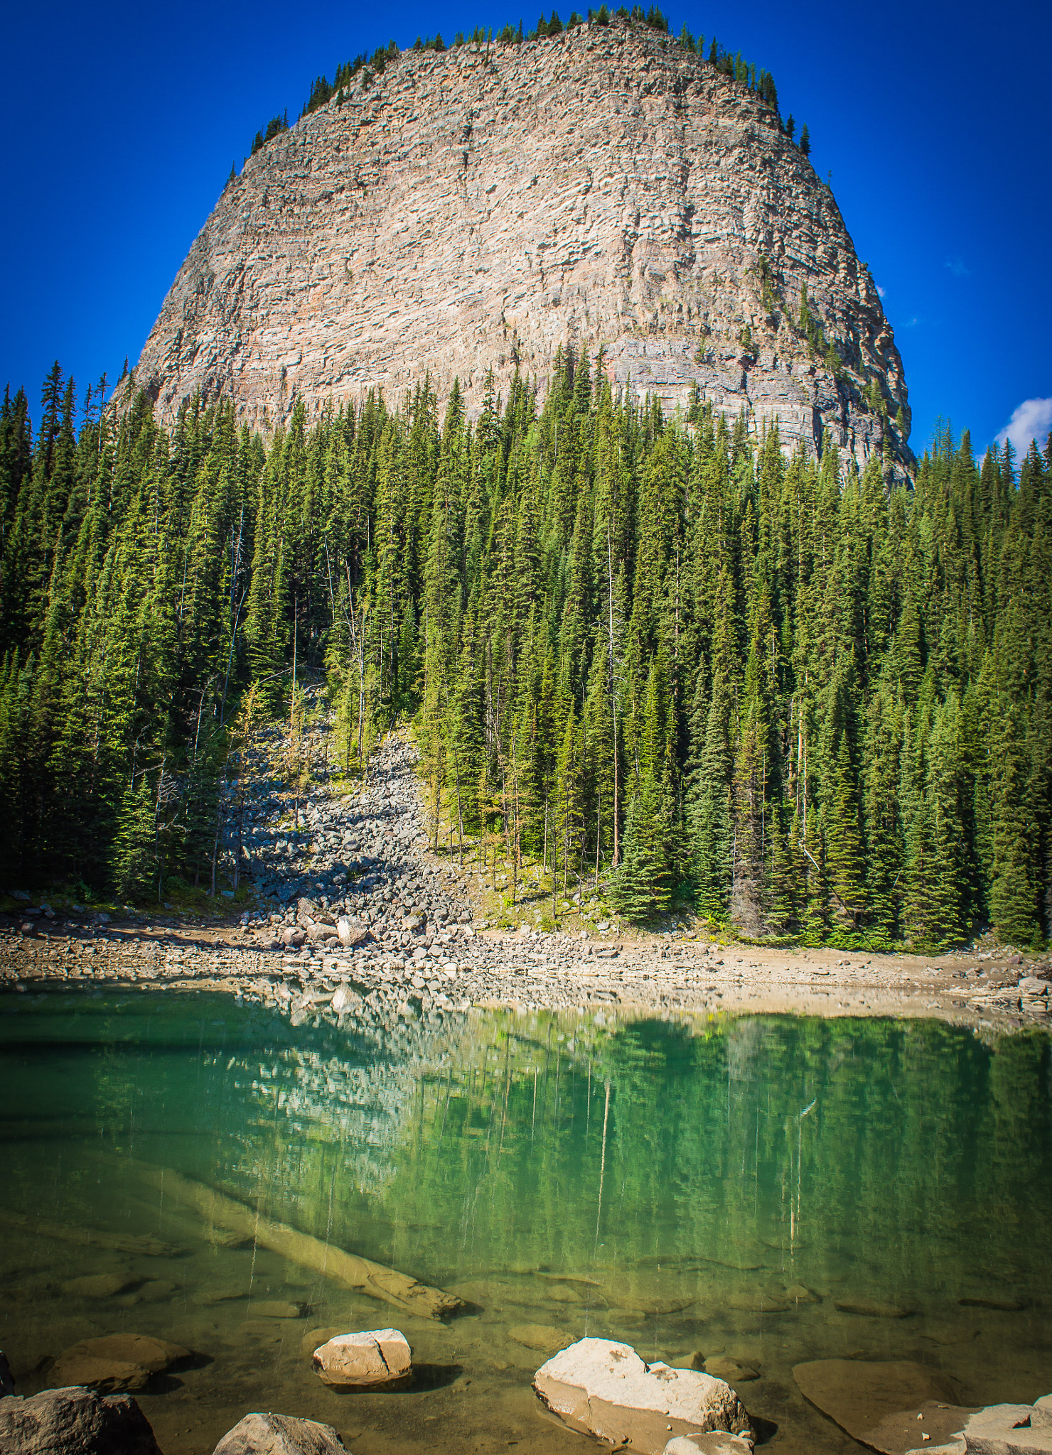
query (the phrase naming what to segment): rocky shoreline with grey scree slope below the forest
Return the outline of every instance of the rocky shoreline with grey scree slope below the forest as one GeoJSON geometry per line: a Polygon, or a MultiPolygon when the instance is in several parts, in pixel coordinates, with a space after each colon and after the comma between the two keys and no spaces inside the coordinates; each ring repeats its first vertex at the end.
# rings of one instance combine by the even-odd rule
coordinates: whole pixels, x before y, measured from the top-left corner
{"type": "Polygon", "coordinates": [[[246,845],[255,896],[242,912],[108,918],[23,896],[0,915],[0,989],[217,989],[294,1023],[377,1026],[489,1007],[939,1017],[982,1035],[1049,1024],[1048,956],[992,944],[937,957],[786,950],[720,941],[684,915],[642,933],[604,920],[588,886],[557,896],[560,928],[546,933],[551,898],[535,877],[509,911],[492,860],[473,848],[461,866],[457,844],[432,851],[405,733],[380,745],[367,784],[323,774],[290,808],[260,764],[246,845]],[[518,928],[493,927],[509,914],[518,928]]]}

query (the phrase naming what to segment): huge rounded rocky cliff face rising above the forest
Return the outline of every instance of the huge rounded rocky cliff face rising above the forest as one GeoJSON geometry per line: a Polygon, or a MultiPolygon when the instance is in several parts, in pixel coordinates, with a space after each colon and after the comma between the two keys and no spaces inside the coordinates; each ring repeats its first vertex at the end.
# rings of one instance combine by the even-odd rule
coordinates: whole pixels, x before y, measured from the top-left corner
{"type": "Polygon", "coordinates": [[[297,393],[397,402],[425,371],[477,404],[490,365],[543,386],[559,345],[669,407],[697,386],[789,445],[909,466],[902,361],[832,194],[764,102],[627,25],[359,76],[227,186],[137,383],[166,420],[202,390],[266,428],[297,393]]]}

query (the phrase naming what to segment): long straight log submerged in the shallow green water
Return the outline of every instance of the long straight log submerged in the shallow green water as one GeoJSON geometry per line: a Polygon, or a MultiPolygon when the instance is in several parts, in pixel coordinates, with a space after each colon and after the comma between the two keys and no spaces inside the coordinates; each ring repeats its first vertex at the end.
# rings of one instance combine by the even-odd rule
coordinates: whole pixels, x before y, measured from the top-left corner
{"type": "Polygon", "coordinates": [[[441,1288],[428,1288],[407,1273],[384,1267],[371,1259],[362,1259],[356,1253],[345,1253],[343,1248],[332,1243],[322,1243],[308,1232],[290,1228],[285,1222],[275,1222],[262,1213],[247,1208],[226,1193],[215,1192],[192,1177],[160,1167],[144,1167],[141,1174],[151,1187],[157,1187],[164,1197],[172,1197],[188,1208],[195,1208],[202,1218],[227,1228],[246,1238],[255,1238],[260,1247],[279,1253],[291,1263],[311,1269],[323,1277],[340,1283],[343,1288],[368,1293],[384,1304],[393,1304],[406,1314],[418,1314],[422,1318],[451,1318],[463,1312],[467,1305],[454,1293],[447,1293],[441,1288]]]}

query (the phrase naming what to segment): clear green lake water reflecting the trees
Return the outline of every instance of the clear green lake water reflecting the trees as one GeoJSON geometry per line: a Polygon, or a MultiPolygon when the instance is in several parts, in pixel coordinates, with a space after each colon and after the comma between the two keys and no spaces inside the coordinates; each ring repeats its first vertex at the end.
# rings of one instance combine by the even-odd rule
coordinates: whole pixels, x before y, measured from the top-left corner
{"type": "Polygon", "coordinates": [[[746,1408],[777,1426],[767,1448],[793,1452],[858,1448],[803,1403],[802,1359],[918,1359],[963,1403],[1052,1390],[1043,1033],[989,1048],[940,1021],[601,1011],[474,1014],[396,1040],[154,991],[4,997],[0,1048],[0,1342],[19,1390],[83,1337],[186,1344],[210,1362],[138,1397],[166,1455],[210,1455],[253,1408],[332,1423],[359,1455],[582,1449],[535,1407],[535,1326],[748,1363],[746,1408]],[[164,1197],[157,1168],[471,1312],[406,1317],[231,1245],[164,1197]],[[86,1229],[178,1251],[73,1241],[86,1229]],[[122,1291],[63,1291],[96,1273],[122,1291]],[[912,1312],[835,1307],[857,1299],[912,1312]],[[301,1317],[263,1317],[274,1301],[301,1317]],[[319,1382],[313,1330],[388,1324],[416,1387],[319,1382]]]}

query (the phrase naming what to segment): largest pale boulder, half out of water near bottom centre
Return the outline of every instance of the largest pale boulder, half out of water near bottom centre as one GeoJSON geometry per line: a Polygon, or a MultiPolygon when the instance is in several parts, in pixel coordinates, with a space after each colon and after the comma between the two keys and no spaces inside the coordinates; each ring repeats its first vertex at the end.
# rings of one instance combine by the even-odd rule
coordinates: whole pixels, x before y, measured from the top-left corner
{"type": "Polygon", "coordinates": [[[549,1359],[534,1390],[570,1429],[637,1455],[662,1455],[671,1436],[749,1427],[742,1401],[723,1379],[696,1369],[646,1365],[630,1344],[581,1339],[549,1359]]]}

